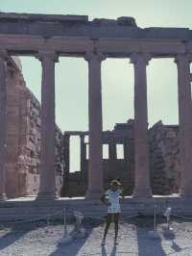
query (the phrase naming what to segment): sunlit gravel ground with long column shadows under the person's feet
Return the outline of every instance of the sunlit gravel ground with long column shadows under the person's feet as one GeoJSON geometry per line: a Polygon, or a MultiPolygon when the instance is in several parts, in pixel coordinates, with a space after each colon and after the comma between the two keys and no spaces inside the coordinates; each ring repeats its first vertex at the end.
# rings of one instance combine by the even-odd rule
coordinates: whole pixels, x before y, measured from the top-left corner
{"type": "MultiPolygon", "coordinates": [[[[104,223],[84,221],[86,237],[74,239],[71,243],[60,243],[64,228],[61,222],[25,223],[2,225],[0,230],[0,255],[2,256],[192,256],[192,222],[176,219],[172,222],[173,234],[164,232],[164,219],[158,219],[159,239],[153,240],[149,231],[153,230],[152,218],[134,218],[121,221],[119,244],[113,245],[113,225],[111,225],[106,246],[101,246],[104,223]],[[162,220],[162,221],[161,221],[162,220]]],[[[72,234],[73,223],[68,225],[72,234]]]]}

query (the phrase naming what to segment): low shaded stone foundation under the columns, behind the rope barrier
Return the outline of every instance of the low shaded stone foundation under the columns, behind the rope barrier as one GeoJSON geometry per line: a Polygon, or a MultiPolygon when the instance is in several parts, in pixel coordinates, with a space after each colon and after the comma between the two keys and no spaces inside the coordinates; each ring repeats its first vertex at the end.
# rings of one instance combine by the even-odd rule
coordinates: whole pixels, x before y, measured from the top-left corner
{"type": "MultiPolygon", "coordinates": [[[[153,216],[163,215],[167,207],[172,208],[172,215],[192,217],[192,198],[179,195],[155,196],[151,199],[134,199],[126,197],[121,205],[122,216],[133,215],[153,216]]],[[[107,206],[98,200],[85,200],[81,198],[60,198],[54,201],[36,201],[35,198],[17,198],[0,203],[0,221],[23,220],[31,218],[61,218],[63,209],[68,217],[73,216],[73,211],[80,211],[84,218],[104,218],[107,215],[107,206]]]]}

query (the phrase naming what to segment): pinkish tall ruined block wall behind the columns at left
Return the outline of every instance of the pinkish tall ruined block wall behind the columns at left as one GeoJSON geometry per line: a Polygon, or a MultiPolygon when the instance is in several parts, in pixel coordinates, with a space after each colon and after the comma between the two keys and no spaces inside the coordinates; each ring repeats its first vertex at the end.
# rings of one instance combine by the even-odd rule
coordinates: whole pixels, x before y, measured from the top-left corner
{"type": "MultiPolygon", "coordinates": [[[[36,195],[39,189],[40,104],[26,87],[18,58],[9,58],[6,71],[6,194],[36,195]]],[[[62,186],[62,134],[56,126],[57,191],[62,186]]]]}

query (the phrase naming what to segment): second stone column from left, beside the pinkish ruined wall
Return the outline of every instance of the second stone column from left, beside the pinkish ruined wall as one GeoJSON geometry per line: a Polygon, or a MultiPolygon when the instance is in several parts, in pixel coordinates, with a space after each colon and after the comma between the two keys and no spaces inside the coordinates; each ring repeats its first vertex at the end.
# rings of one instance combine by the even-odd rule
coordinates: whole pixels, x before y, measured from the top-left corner
{"type": "Polygon", "coordinates": [[[39,51],[41,84],[41,156],[40,185],[36,199],[56,199],[55,169],[55,52],[39,51]]]}

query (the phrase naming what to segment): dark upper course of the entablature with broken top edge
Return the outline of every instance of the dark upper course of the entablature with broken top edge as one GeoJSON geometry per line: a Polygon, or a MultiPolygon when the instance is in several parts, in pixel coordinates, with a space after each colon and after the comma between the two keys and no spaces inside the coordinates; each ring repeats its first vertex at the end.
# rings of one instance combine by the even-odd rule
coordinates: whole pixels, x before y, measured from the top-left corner
{"type": "Polygon", "coordinates": [[[139,28],[133,17],[117,19],[95,18],[87,15],[57,15],[32,13],[0,13],[0,33],[14,35],[41,35],[48,38],[151,38],[151,39],[192,39],[188,28],[139,28]],[[18,22],[19,21],[19,22],[18,22]]]}

